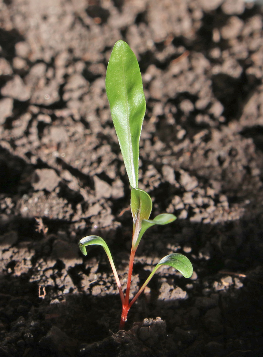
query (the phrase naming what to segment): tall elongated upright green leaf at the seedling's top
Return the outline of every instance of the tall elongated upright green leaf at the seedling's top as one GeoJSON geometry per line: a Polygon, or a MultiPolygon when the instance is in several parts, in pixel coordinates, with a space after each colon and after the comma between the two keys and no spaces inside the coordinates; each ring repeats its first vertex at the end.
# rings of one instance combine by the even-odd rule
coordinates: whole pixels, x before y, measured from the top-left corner
{"type": "Polygon", "coordinates": [[[140,68],[126,42],[115,43],[109,59],[106,93],[130,185],[138,187],[139,140],[145,114],[140,68]]]}

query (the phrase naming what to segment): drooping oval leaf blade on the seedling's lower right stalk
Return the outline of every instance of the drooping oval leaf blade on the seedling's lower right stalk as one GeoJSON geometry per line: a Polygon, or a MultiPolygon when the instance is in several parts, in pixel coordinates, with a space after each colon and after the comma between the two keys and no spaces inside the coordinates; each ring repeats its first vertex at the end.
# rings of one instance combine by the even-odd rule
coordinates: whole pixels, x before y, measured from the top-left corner
{"type": "Polygon", "coordinates": [[[166,255],[159,261],[154,270],[156,271],[160,265],[169,265],[174,267],[176,270],[180,271],[185,278],[190,278],[193,273],[192,263],[186,256],[180,253],[166,255]]]}

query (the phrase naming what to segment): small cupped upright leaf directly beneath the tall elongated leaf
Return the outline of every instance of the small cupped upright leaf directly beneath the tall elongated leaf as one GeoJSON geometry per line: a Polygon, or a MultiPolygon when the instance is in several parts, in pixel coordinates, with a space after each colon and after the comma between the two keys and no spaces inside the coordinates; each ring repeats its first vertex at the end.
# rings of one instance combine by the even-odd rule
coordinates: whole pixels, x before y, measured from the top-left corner
{"type": "Polygon", "coordinates": [[[130,193],[130,209],[132,211],[133,222],[148,220],[153,208],[153,202],[147,192],[140,188],[132,188],[130,193]]]}

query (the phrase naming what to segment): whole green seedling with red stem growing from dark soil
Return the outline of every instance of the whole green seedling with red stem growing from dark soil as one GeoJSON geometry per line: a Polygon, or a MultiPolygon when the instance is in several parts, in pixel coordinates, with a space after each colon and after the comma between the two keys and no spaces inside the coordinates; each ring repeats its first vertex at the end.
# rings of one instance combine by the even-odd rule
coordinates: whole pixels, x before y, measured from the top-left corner
{"type": "Polygon", "coordinates": [[[170,213],[163,213],[156,216],[153,220],[149,220],[153,206],[151,198],[148,193],[138,188],[139,140],[146,103],[138,61],[127,43],[122,40],[117,41],[113,47],[107,67],[105,86],[113,124],[131,186],[130,208],[133,218],[133,236],[125,294],[120,285],[112,255],[105,241],[98,236],[87,236],[79,241],[79,248],[84,255],[87,255],[86,247],[89,245],[100,245],[104,248],[109,258],[122,301],[122,316],[119,326],[120,330],[122,330],[125,321],[127,321],[127,314],[130,307],[143,292],[161,265],[174,267],[186,278],[191,277],[193,267],[190,260],[180,253],[165,256],[155,266],[134,298],[129,301],[134,255],[141,237],[149,227],[171,223],[176,217],[170,213]]]}

